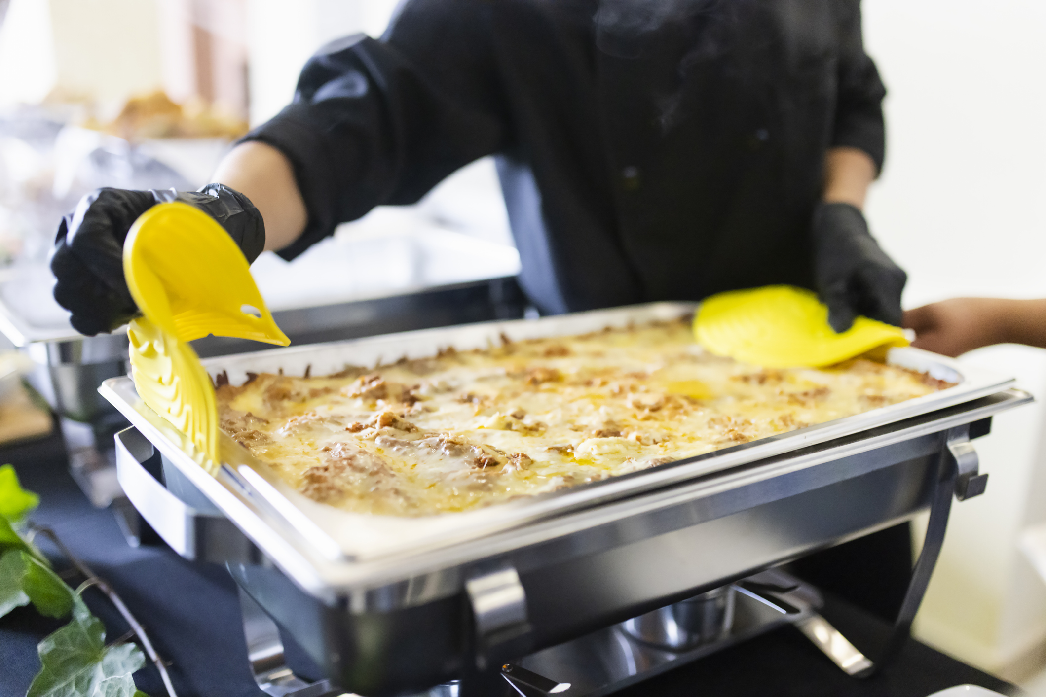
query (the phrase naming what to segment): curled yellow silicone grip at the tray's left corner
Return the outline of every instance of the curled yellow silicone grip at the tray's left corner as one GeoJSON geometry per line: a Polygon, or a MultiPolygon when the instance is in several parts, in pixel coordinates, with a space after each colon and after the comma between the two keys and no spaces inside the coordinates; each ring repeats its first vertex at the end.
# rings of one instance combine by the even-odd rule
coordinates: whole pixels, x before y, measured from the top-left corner
{"type": "Polygon", "coordinates": [[[187,342],[207,334],[287,346],[236,243],[183,203],[154,206],[123,243],[123,274],[142,317],[131,321],[135,388],[185,434],[197,461],[219,464],[214,387],[187,342]]]}

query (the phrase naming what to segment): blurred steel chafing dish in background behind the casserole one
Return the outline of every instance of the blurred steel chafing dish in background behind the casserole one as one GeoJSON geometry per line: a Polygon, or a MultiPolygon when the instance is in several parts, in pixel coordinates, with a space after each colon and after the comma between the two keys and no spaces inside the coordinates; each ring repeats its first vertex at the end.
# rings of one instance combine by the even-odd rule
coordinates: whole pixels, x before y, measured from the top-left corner
{"type": "MultiPolygon", "coordinates": [[[[415,282],[424,278],[413,279],[415,282]]],[[[84,336],[51,297],[54,279],[45,265],[0,272],[0,332],[33,362],[32,387],[60,417],[70,472],[91,502],[113,505],[128,540],[138,540],[138,517],[116,479],[113,435],[127,419],[98,394],[101,382],[128,372],[126,331],[84,336]]],[[[314,294],[315,295],[315,294],[314,294]]],[[[286,304],[286,303],[285,303],[286,304]]],[[[296,345],[368,336],[523,316],[524,297],[511,277],[430,287],[308,307],[283,307],[276,322],[296,345]]],[[[245,340],[208,336],[194,342],[202,356],[269,348],[245,340]]]]}

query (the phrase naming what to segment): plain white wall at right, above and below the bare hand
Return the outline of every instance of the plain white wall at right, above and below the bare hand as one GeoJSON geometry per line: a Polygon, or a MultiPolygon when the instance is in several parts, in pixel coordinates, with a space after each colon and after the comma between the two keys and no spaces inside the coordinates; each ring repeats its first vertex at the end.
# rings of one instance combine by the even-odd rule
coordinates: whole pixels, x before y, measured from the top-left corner
{"type": "MultiPolygon", "coordinates": [[[[864,0],[865,41],[889,90],[873,232],[908,271],[905,304],[962,295],[1046,297],[1046,3],[864,0]]],[[[963,358],[1046,395],[1046,352],[963,358]]],[[[1017,552],[1043,517],[1040,405],[978,441],[987,492],[953,509],[916,635],[1017,674],[1046,640],[1046,586],[1017,552]],[[1015,672],[1016,671],[1016,672],[1015,672]]]]}

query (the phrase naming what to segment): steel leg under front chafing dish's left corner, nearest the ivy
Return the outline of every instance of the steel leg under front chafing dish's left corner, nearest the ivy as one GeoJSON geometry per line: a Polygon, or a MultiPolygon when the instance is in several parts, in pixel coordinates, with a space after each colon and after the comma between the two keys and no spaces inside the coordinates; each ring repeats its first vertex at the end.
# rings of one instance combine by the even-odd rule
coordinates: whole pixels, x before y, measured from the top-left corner
{"type": "Polygon", "coordinates": [[[305,682],[287,667],[283,643],[276,623],[246,590],[240,588],[240,611],[244,617],[247,657],[258,688],[272,697],[323,697],[342,695],[329,680],[305,682]]]}

